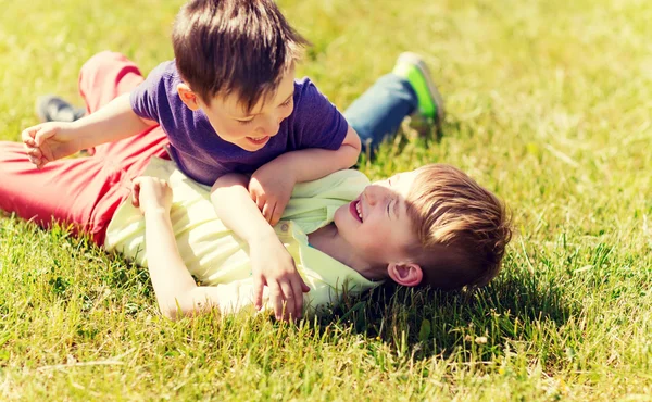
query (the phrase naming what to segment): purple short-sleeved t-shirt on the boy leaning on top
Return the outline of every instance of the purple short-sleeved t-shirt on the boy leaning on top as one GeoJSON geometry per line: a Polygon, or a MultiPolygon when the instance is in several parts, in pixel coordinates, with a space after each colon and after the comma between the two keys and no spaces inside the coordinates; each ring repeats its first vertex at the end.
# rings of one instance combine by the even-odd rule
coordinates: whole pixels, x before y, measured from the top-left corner
{"type": "Polygon", "coordinates": [[[174,61],[160,64],[130,95],[131,109],[159,122],[170,138],[170,154],[190,178],[212,186],[226,173],[253,173],[276,156],[306,148],[337,150],[349,124],[309,78],[294,80],[294,110],[278,134],[262,149],[250,152],[215,133],[203,111],[181,102],[181,81],[174,61]]]}

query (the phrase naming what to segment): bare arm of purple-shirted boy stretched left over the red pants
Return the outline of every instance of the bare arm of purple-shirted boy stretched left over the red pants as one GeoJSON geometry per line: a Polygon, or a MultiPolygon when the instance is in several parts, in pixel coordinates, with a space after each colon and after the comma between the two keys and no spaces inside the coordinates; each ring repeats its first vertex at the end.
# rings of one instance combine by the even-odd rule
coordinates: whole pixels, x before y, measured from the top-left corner
{"type": "Polygon", "coordinates": [[[154,122],[140,118],[131,109],[129,93],[73,123],[48,122],[22,133],[27,155],[36,167],[86,148],[117,141],[145,131],[154,122]]]}

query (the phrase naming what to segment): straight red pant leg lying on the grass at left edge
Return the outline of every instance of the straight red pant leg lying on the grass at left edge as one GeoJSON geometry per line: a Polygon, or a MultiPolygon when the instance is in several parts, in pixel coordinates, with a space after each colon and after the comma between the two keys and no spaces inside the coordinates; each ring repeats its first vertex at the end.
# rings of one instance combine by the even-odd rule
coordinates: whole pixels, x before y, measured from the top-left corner
{"type": "Polygon", "coordinates": [[[92,156],[65,159],[37,169],[23,145],[0,142],[0,209],[42,227],[71,225],[103,244],[115,209],[129,194],[117,165],[92,156]]]}

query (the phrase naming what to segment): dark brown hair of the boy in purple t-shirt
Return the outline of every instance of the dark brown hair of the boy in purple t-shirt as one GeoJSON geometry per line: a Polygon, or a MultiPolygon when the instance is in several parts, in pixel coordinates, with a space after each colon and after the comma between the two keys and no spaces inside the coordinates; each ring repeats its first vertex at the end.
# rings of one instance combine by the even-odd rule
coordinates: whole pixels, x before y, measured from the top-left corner
{"type": "Polygon", "coordinates": [[[308,41],[273,0],[190,0],[172,43],[181,78],[206,104],[235,91],[251,111],[275,93],[308,41]]]}

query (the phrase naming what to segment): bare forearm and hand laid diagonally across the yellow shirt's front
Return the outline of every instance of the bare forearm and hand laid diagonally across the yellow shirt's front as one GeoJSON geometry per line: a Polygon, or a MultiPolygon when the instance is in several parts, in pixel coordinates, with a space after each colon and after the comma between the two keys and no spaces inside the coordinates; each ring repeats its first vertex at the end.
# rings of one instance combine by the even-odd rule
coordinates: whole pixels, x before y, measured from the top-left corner
{"type": "Polygon", "coordinates": [[[303,310],[303,292],[310,288],[276,233],[249,197],[248,181],[247,176],[234,173],[220,177],[211,190],[211,201],[224,225],[249,244],[254,305],[262,307],[266,285],[276,317],[299,318],[303,310]]]}

